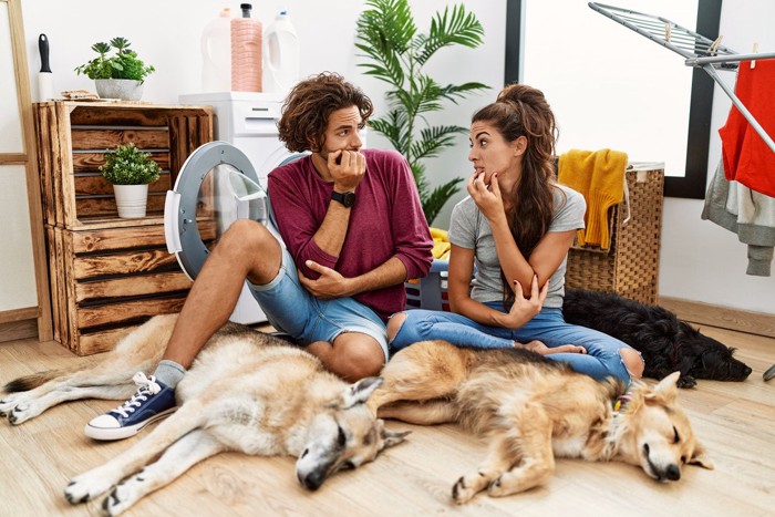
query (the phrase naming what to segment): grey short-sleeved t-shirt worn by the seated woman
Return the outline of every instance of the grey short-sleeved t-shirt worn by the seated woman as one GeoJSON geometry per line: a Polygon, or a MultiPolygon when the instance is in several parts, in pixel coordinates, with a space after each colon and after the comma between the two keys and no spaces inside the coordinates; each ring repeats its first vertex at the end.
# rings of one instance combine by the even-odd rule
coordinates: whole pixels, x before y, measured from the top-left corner
{"type": "MultiPolygon", "coordinates": [[[[568,231],[582,229],[587,203],[583,196],[565,185],[556,185],[555,214],[549,231],[568,231]]],[[[450,242],[461,248],[474,249],[476,273],[474,275],[471,297],[482,303],[503,300],[500,262],[495,251],[493,228],[476,204],[466,197],[452,210],[450,220],[450,242]]],[[[549,278],[549,291],[544,307],[562,307],[565,296],[565,270],[568,257],[549,278]]]]}

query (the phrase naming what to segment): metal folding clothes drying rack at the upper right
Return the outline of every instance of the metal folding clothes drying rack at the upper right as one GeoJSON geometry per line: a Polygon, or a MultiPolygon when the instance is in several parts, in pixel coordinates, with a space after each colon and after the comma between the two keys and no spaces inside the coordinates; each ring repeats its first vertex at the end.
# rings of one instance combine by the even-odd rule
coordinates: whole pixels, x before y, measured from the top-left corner
{"type": "Polygon", "coordinates": [[[737,65],[741,61],[755,62],[757,60],[775,59],[775,52],[738,54],[722,45],[721,37],[716,40],[711,40],[666,18],[654,17],[652,14],[644,14],[642,12],[597,2],[589,2],[589,7],[640,35],[682,55],[685,59],[686,66],[701,68],[704,70],[713,81],[721,86],[724,93],[728,95],[735,107],[740,110],[740,113],[748,121],[756,133],[762,136],[762,139],[764,139],[773,153],[775,153],[775,142],[773,142],[772,136],[767,134],[751,112],[743,105],[741,100],[737,99],[735,92],[721,80],[721,76],[719,76],[716,72],[716,69],[737,70],[737,65]]]}

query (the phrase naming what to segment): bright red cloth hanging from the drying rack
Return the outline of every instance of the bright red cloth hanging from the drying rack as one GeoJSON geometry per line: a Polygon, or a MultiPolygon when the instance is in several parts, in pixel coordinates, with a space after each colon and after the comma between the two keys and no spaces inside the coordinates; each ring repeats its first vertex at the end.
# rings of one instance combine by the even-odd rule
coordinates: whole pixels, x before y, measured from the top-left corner
{"type": "MultiPolygon", "coordinates": [[[[775,60],[742,61],[735,95],[768,135],[775,135],[775,60]]],[[[719,130],[726,179],[775,197],[775,153],[733,105],[719,130]]]]}

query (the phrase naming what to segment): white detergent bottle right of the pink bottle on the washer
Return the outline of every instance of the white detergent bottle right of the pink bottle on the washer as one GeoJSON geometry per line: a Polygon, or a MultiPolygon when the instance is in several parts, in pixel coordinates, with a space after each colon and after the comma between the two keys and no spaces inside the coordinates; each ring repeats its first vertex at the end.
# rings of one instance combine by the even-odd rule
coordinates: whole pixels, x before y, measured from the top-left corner
{"type": "Polygon", "coordinates": [[[281,11],[264,34],[264,91],[287,93],[299,81],[299,37],[287,11],[281,11]]]}

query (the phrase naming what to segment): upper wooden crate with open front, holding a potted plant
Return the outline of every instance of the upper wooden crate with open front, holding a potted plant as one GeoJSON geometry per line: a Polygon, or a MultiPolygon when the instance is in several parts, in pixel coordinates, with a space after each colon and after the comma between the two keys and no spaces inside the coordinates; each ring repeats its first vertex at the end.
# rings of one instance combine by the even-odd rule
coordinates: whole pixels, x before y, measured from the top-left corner
{"type": "Polygon", "coordinates": [[[164,214],[190,153],[213,139],[208,106],[45,102],[34,106],[44,223],[62,228],[116,219],[113,187],[100,174],[105,152],[133,142],[163,169],[148,186],[147,216],[164,214]]]}

